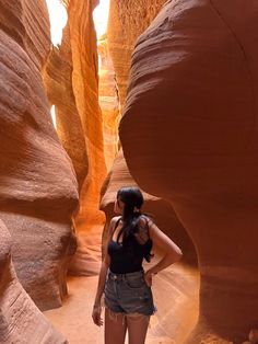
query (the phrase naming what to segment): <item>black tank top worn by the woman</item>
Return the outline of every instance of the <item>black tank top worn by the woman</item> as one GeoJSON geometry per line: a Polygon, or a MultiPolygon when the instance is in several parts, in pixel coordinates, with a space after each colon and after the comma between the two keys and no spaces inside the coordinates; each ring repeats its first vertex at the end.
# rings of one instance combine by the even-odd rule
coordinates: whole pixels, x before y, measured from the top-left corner
{"type": "MultiPolygon", "coordinates": [[[[119,218],[115,225],[113,234],[119,223],[119,218]]],[[[149,236],[149,230],[148,230],[149,236]]],[[[142,270],[142,261],[145,252],[152,249],[152,240],[149,238],[144,244],[138,242],[137,238],[132,234],[128,245],[125,248],[122,243],[113,239],[108,243],[107,252],[110,256],[109,270],[114,274],[134,273],[142,270]]]]}

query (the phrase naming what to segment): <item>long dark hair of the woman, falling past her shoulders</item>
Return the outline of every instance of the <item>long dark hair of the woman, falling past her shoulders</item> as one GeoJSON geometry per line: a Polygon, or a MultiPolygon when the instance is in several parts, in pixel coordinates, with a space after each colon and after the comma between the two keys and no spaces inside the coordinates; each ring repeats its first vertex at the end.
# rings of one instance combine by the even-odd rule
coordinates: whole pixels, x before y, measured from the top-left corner
{"type": "MultiPolygon", "coordinates": [[[[139,222],[141,215],[141,207],[144,203],[143,195],[138,187],[128,186],[121,187],[117,192],[117,199],[118,202],[121,200],[125,204],[124,213],[122,213],[122,227],[118,232],[117,241],[122,236],[122,245],[129,246],[130,240],[136,238],[134,234],[139,232],[139,222]]],[[[148,228],[148,218],[145,223],[145,229],[149,236],[149,228],[148,228]]],[[[136,239],[134,239],[136,240],[136,239]]],[[[144,244],[144,259],[150,262],[152,254],[152,241],[149,240],[144,244]]]]}

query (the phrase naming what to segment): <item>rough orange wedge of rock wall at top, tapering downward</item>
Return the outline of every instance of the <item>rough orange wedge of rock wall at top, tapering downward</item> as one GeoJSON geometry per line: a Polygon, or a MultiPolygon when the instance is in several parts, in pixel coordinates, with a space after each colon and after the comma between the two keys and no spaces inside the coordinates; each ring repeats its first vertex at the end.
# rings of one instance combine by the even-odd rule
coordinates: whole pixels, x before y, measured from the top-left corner
{"type": "Polygon", "coordinates": [[[125,105],[136,39],[165,2],[166,0],[110,0],[107,38],[121,108],[125,105]]]}

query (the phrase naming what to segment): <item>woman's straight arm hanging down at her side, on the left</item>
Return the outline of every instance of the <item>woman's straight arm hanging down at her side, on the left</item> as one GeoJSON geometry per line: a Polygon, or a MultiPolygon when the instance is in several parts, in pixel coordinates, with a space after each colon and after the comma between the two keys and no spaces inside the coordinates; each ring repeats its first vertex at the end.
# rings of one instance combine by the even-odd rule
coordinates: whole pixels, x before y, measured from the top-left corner
{"type": "Polygon", "coordinates": [[[115,226],[117,218],[113,218],[108,228],[108,233],[107,233],[107,241],[104,248],[104,260],[102,262],[102,267],[98,276],[98,284],[97,284],[97,290],[96,290],[96,296],[95,296],[95,301],[93,306],[93,312],[92,312],[92,318],[93,321],[96,325],[101,326],[103,324],[103,320],[101,318],[101,300],[102,300],[102,295],[105,288],[105,283],[106,283],[106,274],[107,270],[109,267],[109,254],[107,252],[107,246],[108,243],[112,239],[113,234],[113,229],[115,226]]]}

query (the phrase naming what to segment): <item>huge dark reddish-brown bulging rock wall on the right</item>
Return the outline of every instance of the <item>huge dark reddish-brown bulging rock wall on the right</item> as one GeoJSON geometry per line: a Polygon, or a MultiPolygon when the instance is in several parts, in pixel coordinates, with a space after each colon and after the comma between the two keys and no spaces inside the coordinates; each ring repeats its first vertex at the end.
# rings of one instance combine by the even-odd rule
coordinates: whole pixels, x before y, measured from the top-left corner
{"type": "Polygon", "coordinates": [[[120,138],[137,183],[172,203],[197,246],[188,343],[257,326],[257,1],[168,1],[138,39],[120,138]]]}

